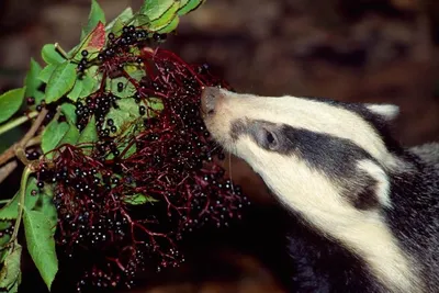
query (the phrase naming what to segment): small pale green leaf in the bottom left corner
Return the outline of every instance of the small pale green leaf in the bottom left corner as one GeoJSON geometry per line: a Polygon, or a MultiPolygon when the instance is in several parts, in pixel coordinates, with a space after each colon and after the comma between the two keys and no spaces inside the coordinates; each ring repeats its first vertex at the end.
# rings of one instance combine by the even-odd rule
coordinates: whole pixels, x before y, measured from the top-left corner
{"type": "Polygon", "coordinates": [[[16,290],[11,291],[11,289],[14,289],[15,283],[20,284],[21,252],[21,245],[14,244],[12,252],[4,259],[4,266],[0,271],[0,289],[5,289],[8,292],[16,292],[16,290]]]}

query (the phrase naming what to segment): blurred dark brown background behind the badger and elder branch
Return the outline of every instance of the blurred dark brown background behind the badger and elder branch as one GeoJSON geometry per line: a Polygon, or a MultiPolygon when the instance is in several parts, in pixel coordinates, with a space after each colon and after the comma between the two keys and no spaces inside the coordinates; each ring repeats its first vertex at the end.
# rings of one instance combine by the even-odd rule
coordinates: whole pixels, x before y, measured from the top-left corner
{"type": "MultiPolygon", "coordinates": [[[[99,2],[110,20],[142,0],[99,2]]],[[[88,13],[89,0],[1,0],[0,91],[22,84],[44,44],[76,45],[88,13]]],[[[439,138],[438,44],[437,0],[207,0],[164,46],[209,63],[237,91],[397,104],[397,137],[415,145],[439,138]]],[[[145,278],[134,292],[283,292],[262,264],[272,199],[243,162],[232,170],[254,214],[228,232],[194,235],[181,269],[145,278]]],[[[24,282],[43,288],[36,277],[24,282]]]]}

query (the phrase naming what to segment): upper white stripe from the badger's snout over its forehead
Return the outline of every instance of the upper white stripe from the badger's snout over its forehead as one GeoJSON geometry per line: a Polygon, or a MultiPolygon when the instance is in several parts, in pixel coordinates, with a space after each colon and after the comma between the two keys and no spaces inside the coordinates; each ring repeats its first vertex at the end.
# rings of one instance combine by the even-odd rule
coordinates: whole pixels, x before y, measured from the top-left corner
{"type": "MultiPolygon", "coordinates": [[[[360,115],[328,103],[290,95],[266,98],[251,94],[238,94],[221,90],[224,98],[218,102],[211,124],[215,124],[218,135],[227,135],[229,122],[247,117],[266,120],[271,123],[286,124],[291,127],[308,129],[346,138],[368,151],[385,168],[396,168],[397,159],[392,156],[374,128],[360,115]],[[221,120],[221,124],[214,123],[221,120]],[[224,127],[223,129],[221,129],[224,127]]],[[[207,121],[209,126],[209,121],[207,121]]],[[[225,142],[227,137],[218,137],[225,142]]],[[[322,146],[324,147],[324,146],[322,146]]]]}

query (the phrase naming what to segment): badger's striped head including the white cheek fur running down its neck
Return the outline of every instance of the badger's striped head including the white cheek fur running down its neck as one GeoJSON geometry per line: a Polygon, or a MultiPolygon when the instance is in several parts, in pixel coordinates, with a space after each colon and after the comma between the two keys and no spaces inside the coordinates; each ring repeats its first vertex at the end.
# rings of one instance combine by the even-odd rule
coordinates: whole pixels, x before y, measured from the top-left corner
{"type": "Polygon", "coordinates": [[[205,88],[202,113],[218,144],[274,195],[360,256],[383,283],[410,290],[410,264],[387,226],[390,174],[402,168],[386,134],[398,108],[205,88]]]}

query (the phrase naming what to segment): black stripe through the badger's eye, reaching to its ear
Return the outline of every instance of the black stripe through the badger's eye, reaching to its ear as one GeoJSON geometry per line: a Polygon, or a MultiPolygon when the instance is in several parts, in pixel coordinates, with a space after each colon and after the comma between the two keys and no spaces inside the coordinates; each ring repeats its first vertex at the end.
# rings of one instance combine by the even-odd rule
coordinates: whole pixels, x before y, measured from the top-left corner
{"type": "Polygon", "coordinates": [[[380,205],[374,192],[376,181],[357,168],[360,160],[379,162],[352,142],[262,120],[234,121],[230,137],[236,140],[243,135],[251,137],[262,149],[300,157],[309,168],[322,171],[342,187],[342,194],[356,209],[370,210],[380,205]]]}

